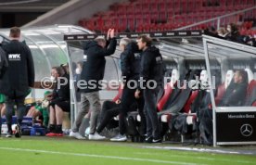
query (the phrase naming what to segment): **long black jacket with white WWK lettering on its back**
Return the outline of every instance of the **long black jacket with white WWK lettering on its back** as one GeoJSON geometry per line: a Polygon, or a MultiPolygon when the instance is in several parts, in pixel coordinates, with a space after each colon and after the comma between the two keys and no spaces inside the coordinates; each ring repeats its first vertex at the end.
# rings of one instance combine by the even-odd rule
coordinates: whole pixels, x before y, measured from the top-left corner
{"type": "Polygon", "coordinates": [[[10,96],[25,96],[34,83],[34,66],[30,48],[17,40],[3,45],[8,68],[0,81],[0,93],[10,96]]]}

